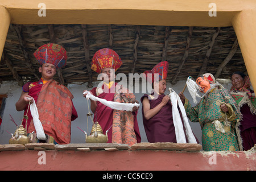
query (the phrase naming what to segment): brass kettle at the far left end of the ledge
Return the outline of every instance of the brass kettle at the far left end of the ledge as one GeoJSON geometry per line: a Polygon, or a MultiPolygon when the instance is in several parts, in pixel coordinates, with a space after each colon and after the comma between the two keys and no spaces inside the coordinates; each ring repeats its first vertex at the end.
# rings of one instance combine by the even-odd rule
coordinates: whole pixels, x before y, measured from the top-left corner
{"type": "Polygon", "coordinates": [[[27,144],[30,143],[30,138],[27,137],[27,131],[23,125],[19,125],[18,129],[15,130],[14,135],[9,140],[10,144],[27,144]]]}

